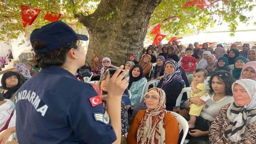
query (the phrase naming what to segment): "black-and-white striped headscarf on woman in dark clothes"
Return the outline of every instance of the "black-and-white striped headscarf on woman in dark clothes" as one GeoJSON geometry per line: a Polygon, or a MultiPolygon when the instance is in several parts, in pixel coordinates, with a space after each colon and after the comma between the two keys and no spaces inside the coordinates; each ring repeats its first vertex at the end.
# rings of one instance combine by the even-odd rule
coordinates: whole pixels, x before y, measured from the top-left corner
{"type": "MultiPolygon", "coordinates": [[[[165,67],[166,67],[166,64],[168,64],[168,63],[171,63],[173,65],[174,72],[170,75],[168,75],[166,72],[163,73],[163,84],[162,84],[161,88],[165,87],[167,84],[169,84],[173,80],[182,80],[181,71],[179,69],[178,63],[176,61],[174,61],[173,59],[170,59],[165,62],[165,67]]],[[[165,67],[164,67],[164,69],[165,69],[165,67]]]]}

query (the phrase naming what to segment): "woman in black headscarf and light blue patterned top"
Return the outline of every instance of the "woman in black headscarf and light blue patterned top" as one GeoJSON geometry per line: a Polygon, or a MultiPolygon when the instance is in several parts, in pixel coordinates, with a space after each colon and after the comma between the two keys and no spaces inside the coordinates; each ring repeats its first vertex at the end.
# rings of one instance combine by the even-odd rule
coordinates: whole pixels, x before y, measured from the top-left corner
{"type": "Polygon", "coordinates": [[[142,96],[142,91],[147,83],[146,78],[143,77],[142,67],[139,64],[135,64],[129,72],[130,80],[128,89],[131,92],[131,106],[138,104],[142,96]]]}

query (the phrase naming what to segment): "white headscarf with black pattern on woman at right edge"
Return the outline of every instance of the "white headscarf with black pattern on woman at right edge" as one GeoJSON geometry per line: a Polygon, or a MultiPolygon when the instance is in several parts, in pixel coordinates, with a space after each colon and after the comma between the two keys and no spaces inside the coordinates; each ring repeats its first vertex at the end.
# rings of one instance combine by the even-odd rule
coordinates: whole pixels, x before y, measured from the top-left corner
{"type": "Polygon", "coordinates": [[[256,81],[243,79],[232,84],[239,84],[247,92],[251,102],[245,106],[238,106],[234,101],[227,110],[227,117],[230,120],[229,126],[226,128],[225,134],[233,142],[238,142],[242,139],[246,126],[256,121],[256,81]]]}

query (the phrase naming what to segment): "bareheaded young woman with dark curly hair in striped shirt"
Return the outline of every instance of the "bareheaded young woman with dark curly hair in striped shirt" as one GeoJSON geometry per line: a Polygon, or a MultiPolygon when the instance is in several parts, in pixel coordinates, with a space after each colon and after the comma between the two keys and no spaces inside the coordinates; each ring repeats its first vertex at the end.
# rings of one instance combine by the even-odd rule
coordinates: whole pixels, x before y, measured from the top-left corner
{"type": "Polygon", "coordinates": [[[189,98],[187,105],[194,103],[198,106],[203,105],[200,116],[196,118],[195,128],[188,132],[190,141],[188,144],[207,144],[209,143],[209,124],[214,121],[218,111],[224,105],[233,102],[231,85],[234,79],[227,71],[214,72],[209,80],[210,90],[205,95],[211,98],[206,102],[199,97],[189,98]]]}

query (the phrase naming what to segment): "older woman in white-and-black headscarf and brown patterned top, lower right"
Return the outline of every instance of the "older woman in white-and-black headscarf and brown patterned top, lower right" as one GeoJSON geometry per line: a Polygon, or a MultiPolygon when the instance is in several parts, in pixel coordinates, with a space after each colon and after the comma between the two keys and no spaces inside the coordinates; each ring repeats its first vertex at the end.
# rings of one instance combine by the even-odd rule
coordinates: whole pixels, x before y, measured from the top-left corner
{"type": "Polygon", "coordinates": [[[256,143],[256,82],[243,79],[232,84],[234,102],[222,107],[209,130],[212,144],[256,143]]]}

